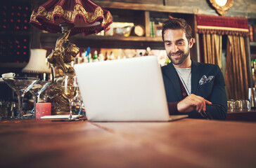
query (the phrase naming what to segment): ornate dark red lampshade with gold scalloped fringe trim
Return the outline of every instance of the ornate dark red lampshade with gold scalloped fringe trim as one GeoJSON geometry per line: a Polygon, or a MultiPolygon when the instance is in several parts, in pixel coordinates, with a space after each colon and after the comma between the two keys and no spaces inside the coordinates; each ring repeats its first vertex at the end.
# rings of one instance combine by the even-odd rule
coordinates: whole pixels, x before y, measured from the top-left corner
{"type": "Polygon", "coordinates": [[[112,15],[90,0],[49,0],[32,11],[30,23],[51,33],[62,32],[60,24],[72,25],[70,36],[85,36],[108,30],[112,15]]]}

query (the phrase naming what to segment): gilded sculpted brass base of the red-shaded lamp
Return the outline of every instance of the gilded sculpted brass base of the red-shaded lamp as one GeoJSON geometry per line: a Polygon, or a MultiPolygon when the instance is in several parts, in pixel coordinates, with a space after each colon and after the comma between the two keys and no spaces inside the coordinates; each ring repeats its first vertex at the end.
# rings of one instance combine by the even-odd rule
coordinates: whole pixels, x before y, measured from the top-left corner
{"type": "Polygon", "coordinates": [[[75,70],[70,63],[74,61],[79,53],[79,48],[68,40],[70,30],[74,25],[62,23],[59,26],[62,30],[62,36],[57,39],[54,50],[47,57],[48,62],[51,63],[53,76],[53,84],[50,87],[48,101],[51,102],[52,113],[65,113],[65,111],[68,113],[69,102],[62,95],[61,83],[63,76],[75,76],[75,70]]]}

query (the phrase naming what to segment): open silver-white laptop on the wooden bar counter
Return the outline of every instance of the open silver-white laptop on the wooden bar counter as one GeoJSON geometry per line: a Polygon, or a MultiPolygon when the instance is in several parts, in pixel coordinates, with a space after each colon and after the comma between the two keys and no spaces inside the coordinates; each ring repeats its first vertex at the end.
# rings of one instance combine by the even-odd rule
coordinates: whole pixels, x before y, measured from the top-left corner
{"type": "Polygon", "coordinates": [[[169,121],[165,87],[156,56],[75,64],[90,121],[169,121]]]}

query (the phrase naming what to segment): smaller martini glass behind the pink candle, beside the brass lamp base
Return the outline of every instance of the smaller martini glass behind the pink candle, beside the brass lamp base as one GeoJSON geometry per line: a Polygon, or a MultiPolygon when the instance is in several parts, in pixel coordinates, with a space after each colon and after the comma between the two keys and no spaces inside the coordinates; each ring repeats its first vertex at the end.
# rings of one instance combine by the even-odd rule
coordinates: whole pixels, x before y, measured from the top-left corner
{"type": "Polygon", "coordinates": [[[36,104],[39,103],[40,94],[44,92],[50,84],[51,82],[49,81],[40,80],[30,89],[34,99],[34,108],[31,111],[32,117],[35,117],[36,115],[36,104]]]}

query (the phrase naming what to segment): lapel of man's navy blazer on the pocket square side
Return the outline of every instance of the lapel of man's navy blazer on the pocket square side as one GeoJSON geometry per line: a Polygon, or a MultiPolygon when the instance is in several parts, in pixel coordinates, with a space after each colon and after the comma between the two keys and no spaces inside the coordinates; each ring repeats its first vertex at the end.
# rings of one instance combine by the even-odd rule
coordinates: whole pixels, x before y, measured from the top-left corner
{"type": "MultiPolygon", "coordinates": [[[[191,59],[192,60],[192,59],[191,59]]],[[[196,94],[198,82],[200,80],[201,66],[198,62],[192,60],[191,65],[191,93],[196,94]]]]}

